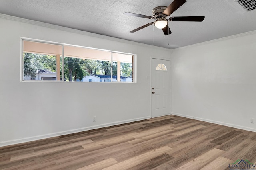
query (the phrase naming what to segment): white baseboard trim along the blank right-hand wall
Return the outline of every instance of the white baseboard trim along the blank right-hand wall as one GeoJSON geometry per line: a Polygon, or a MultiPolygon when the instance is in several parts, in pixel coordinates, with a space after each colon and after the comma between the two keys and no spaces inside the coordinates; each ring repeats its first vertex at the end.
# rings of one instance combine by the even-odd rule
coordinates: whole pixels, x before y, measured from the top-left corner
{"type": "Polygon", "coordinates": [[[205,121],[205,122],[209,122],[209,123],[214,123],[214,124],[218,124],[218,125],[234,127],[236,129],[242,129],[242,130],[246,130],[246,131],[256,132],[256,129],[253,129],[253,128],[250,128],[250,127],[239,126],[239,125],[234,125],[234,124],[220,122],[220,121],[213,121],[213,120],[209,120],[209,119],[203,119],[203,118],[200,118],[200,117],[193,117],[193,116],[183,115],[183,114],[174,113],[174,112],[172,112],[171,114],[176,115],[176,116],[180,116],[180,117],[186,117],[186,118],[190,118],[190,119],[195,119],[195,120],[205,121]]]}

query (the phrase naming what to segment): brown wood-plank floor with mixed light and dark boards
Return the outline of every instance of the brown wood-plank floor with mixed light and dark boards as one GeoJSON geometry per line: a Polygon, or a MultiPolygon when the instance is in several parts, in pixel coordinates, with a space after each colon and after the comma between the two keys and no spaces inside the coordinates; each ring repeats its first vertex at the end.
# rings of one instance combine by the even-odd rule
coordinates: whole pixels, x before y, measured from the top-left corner
{"type": "Polygon", "coordinates": [[[4,170],[228,170],[256,133],[174,115],[0,147],[4,170]]]}

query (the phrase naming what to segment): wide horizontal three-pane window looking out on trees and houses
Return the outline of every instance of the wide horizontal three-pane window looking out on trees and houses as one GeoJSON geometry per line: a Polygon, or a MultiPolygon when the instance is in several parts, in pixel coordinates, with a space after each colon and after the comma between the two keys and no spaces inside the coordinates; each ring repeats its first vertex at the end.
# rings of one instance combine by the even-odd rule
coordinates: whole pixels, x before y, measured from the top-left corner
{"type": "Polygon", "coordinates": [[[25,39],[22,47],[23,81],[134,82],[132,54],[25,39]]]}

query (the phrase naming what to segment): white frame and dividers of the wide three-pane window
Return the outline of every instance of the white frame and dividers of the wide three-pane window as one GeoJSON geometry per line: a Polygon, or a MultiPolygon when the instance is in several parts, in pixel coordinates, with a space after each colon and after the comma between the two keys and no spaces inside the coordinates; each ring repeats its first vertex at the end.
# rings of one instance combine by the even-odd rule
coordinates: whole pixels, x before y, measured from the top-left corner
{"type": "MultiPolygon", "coordinates": [[[[57,42],[52,42],[52,41],[45,41],[45,40],[39,40],[39,39],[31,39],[31,38],[26,38],[26,37],[21,37],[21,82],[66,82],[65,81],[65,76],[64,76],[64,46],[71,46],[71,47],[80,47],[80,48],[85,48],[85,49],[92,49],[92,50],[99,50],[99,51],[106,51],[111,53],[111,83],[120,83],[120,82],[125,82],[125,83],[136,83],[136,54],[132,53],[124,53],[124,52],[118,52],[118,51],[111,51],[111,50],[105,50],[105,49],[97,49],[97,48],[92,48],[92,47],[85,47],[85,46],[80,46],[80,45],[72,45],[72,44],[66,44],[66,43],[57,43],[57,42]],[[47,81],[34,81],[34,80],[24,80],[24,41],[30,41],[30,42],[35,42],[35,43],[46,43],[50,45],[60,45],[62,46],[62,54],[60,55],[62,57],[62,64],[60,65],[60,70],[62,69],[62,74],[60,75],[62,77],[62,80],[47,80],[47,81]],[[117,54],[123,54],[123,55],[130,55],[132,57],[132,82],[126,82],[126,81],[113,81],[113,53],[117,54]],[[134,63],[135,62],[135,63],[134,63]]],[[[37,54],[37,53],[36,53],[37,54]]],[[[74,56],[75,57],[75,56],[74,56]]],[[[95,58],[96,59],[96,58],[95,58]]],[[[121,76],[121,75],[120,75],[121,76]]],[[[72,81],[76,82],[76,81],[72,81]]],[[[92,81],[93,82],[93,81],[92,81]]],[[[103,81],[101,81],[103,82],[103,81]]],[[[104,81],[105,82],[105,81],[104,81]]],[[[107,81],[106,81],[107,82],[107,81]]],[[[90,82],[91,83],[91,82],[90,82]]]]}

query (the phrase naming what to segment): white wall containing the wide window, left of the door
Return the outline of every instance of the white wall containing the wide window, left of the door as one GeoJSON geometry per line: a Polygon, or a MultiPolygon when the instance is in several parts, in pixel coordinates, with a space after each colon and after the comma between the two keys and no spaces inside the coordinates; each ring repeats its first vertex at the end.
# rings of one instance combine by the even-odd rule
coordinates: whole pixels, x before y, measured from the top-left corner
{"type": "Polygon", "coordinates": [[[150,60],[171,50],[2,14],[0,23],[0,146],[151,117],[150,60]],[[137,83],[21,82],[21,37],[136,54],[137,83]]]}

